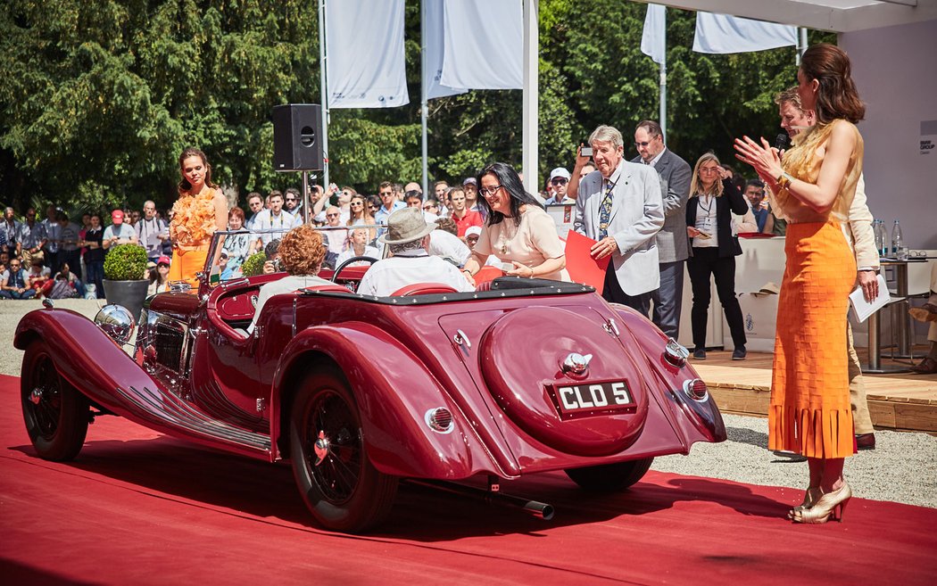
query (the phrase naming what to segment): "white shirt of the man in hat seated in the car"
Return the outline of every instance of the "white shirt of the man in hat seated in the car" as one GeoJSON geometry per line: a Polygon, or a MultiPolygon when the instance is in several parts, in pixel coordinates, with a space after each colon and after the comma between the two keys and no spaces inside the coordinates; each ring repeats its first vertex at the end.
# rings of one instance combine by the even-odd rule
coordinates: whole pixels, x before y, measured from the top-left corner
{"type": "Polygon", "coordinates": [[[456,291],[473,291],[455,265],[425,250],[409,250],[380,260],[364,273],[358,293],[383,297],[414,283],[441,283],[456,291]]]}

